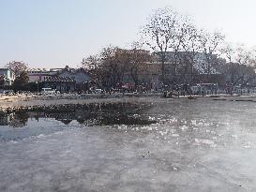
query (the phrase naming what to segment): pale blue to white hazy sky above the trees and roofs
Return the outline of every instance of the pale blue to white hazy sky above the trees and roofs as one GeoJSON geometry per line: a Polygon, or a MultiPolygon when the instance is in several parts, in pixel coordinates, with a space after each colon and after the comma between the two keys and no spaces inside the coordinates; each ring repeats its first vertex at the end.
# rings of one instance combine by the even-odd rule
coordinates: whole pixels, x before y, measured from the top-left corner
{"type": "Polygon", "coordinates": [[[229,41],[256,45],[255,0],[0,0],[0,66],[78,66],[104,46],[128,46],[148,14],[166,6],[229,41]]]}

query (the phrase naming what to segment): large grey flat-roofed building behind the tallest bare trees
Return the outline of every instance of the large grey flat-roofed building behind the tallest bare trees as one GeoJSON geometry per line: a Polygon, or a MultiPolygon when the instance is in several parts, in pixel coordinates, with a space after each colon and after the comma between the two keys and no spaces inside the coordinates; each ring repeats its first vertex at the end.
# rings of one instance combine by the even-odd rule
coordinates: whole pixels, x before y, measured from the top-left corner
{"type": "MultiPolygon", "coordinates": [[[[160,53],[154,52],[155,63],[161,66],[160,53]]],[[[203,52],[167,52],[165,59],[165,78],[169,83],[225,83],[225,77],[218,65],[226,63],[224,59],[212,55],[215,65],[207,63],[203,52]]]]}

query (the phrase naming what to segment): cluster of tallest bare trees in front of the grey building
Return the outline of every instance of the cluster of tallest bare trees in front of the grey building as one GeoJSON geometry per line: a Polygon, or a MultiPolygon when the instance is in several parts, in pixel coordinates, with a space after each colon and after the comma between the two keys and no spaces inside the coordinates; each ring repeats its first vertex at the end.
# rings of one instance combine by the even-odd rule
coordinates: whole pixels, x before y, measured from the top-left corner
{"type": "MultiPolygon", "coordinates": [[[[218,63],[218,54],[224,36],[219,33],[208,33],[198,30],[197,26],[188,18],[170,7],[158,9],[143,27],[143,38],[153,52],[158,53],[161,62],[162,81],[166,84],[166,63],[168,52],[173,52],[173,82],[176,81],[177,66],[182,71],[186,82],[192,83],[195,65],[212,73],[212,67],[218,63]],[[198,63],[198,53],[203,52],[204,62],[198,63]],[[182,66],[182,68],[181,68],[182,66]],[[189,75],[189,80],[187,80],[189,75]]],[[[169,65],[170,65],[170,61],[169,65]]]]}

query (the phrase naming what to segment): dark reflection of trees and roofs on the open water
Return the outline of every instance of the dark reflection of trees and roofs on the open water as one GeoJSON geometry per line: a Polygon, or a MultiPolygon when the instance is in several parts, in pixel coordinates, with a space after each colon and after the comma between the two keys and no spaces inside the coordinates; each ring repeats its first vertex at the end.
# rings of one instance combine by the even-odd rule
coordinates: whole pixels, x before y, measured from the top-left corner
{"type": "Polygon", "coordinates": [[[128,103],[102,103],[37,107],[30,110],[0,111],[0,126],[23,127],[28,119],[55,119],[65,125],[73,120],[85,126],[95,125],[150,125],[157,121],[143,119],[141,111],[146,105],[128,103]]]}

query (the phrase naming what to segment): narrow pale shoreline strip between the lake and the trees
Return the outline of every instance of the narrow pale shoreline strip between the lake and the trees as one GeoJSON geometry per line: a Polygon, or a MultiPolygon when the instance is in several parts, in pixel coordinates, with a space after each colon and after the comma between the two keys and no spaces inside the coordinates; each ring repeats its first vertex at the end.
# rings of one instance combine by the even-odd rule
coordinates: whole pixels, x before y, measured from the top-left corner
{"type": "Polygon", "coordinates": [[[47,107],[52,105],[72,105],[90,103],[154,103],[181,99],[208,99],[212,101],[246,101],[256,102],[256,96],[179,96],[162,97],[160,95],[115,95],[115,96],[0,96],[0,111],[11,109],[27,109],[33,107],[47,107]]]}

